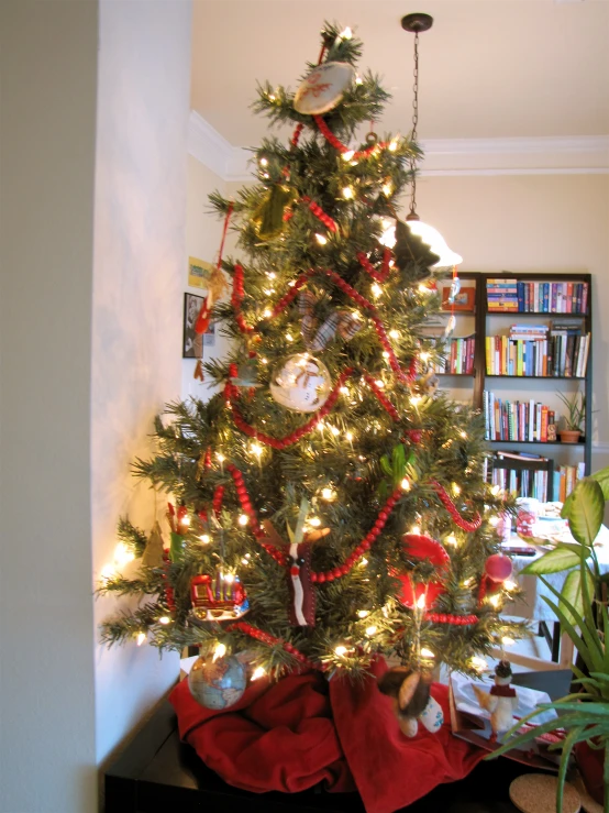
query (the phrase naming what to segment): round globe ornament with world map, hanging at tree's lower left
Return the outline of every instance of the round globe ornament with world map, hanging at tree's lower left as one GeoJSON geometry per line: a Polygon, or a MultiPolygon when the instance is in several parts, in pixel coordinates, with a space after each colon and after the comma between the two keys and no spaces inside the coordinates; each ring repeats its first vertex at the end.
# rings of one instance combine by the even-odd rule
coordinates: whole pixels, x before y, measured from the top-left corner
{"type": "Polygon", "coordinates": [[[188,688],[197,703],[222,711],[234,705],[245,691],[245,666],[234,656],[199,657],[188,673],[188,688]]]}

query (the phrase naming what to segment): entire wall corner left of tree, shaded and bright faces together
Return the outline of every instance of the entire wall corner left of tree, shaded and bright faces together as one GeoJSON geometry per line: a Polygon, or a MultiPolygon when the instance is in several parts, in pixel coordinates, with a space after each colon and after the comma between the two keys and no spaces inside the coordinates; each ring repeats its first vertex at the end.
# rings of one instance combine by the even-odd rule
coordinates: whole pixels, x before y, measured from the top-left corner
{"type": "Polygon", "coordinates": [[[92,813],[178,674],[99,647],[92,593],[119,515],[152,518],[129,464],[179,396],[191,3],[0,13],[0,811],[92,813]]]}

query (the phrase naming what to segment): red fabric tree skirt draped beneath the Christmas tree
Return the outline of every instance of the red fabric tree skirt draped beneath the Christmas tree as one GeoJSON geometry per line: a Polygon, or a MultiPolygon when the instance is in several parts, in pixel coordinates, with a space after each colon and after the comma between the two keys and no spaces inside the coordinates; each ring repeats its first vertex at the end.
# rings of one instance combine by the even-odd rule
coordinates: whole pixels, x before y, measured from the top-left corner
{"type": "MultiPolygon", "coordinates": [[[[386,669],[379,660],[372,672],[386,669]]],[[[184,680],[169,700],[180,737],[229,784],[296,793],[324,781],[330,791],[357,790],[367,813],[394,813],[462,779],[484,756],[451,734],[447,688],[434,683],[432,694],[444,726],[438,734],[419,726],[413,739],[399,730],[374,678],[355,685],[319,672],[258,680],[224,712],[200,706],[184,680]]]]}

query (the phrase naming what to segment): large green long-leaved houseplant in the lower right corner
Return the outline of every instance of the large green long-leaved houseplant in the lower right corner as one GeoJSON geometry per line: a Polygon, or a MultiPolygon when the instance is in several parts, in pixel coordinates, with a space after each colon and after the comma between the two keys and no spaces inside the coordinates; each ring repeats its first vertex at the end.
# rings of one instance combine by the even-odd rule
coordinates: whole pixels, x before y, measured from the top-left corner
{"type": "Polygon", "coordinates": [[[573,752],[590,795],[609,813],[609,614],[607,584],[609,573],[601,573],[594,542],[602,525],[605,503],[609,498],[609,468],[580,480],[567,497],[562,516],[568,519],[573,542],[558,542],[552,550],[531,562],[523,571],[541,579],[553,598],[543,596],[571,638],[577,651],[572,664],[574,684],[579,690],[554,703],[544,703],[520,719],[506,735],[497,757],[520,747],[540,734],[556,727],[556,721],[519,734],[522,725],[549,708],[560,713],[565,732],[561,750],[556,811],[563,809],[564,782],[573,752]],[[544,575],[568,570],[561,591],[544,575]]]}

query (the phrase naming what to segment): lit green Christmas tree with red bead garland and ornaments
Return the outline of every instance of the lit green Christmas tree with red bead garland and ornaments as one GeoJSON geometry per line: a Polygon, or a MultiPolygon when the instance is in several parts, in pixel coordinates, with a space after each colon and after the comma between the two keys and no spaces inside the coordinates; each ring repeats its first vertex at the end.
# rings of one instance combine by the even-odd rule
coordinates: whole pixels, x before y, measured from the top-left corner
{"type": "Polygon", "coordinates": [[[419,151],[372,128],[356,140],[389,96],[357,75],[348,30],[326,24],[322,46],[296,96],[258,88],[255,111],[290,124],[289,143],[265,139],[255,185],[211,197],[239,257],[212,285],[228,278],[230,300],[208,299],[196,330],[212,319],[232,350],[203,364],[220,392],[167,406],[135,463],[169,526],[121,521],[141,567],[100,591],[143,601],[103,638],[246,652],[251,677],[356,678],[378,656],[476,673],[519,625],[500,617],[513,585],[483,421],[435,386],[451,326],[439,341],[425,323],[446,270],[397,218],[419,151]]]}

